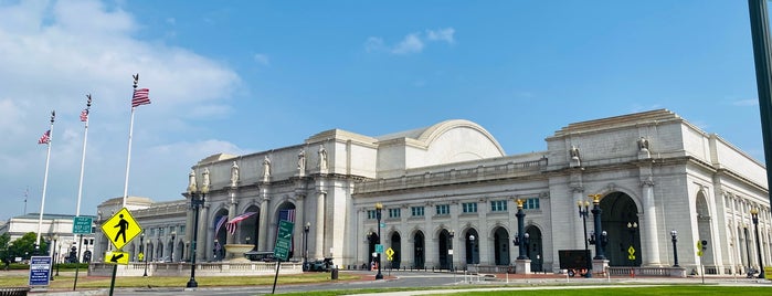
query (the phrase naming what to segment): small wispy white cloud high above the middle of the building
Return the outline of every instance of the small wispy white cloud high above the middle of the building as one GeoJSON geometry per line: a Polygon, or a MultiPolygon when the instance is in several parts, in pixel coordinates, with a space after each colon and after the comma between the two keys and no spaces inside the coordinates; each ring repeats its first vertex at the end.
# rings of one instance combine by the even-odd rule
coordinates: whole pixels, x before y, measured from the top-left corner
{"type": "Polygon", "coordinates": [[[391,54],[406,55],[421,53],[431,42],[455,43],[455,29],[446,28],[440,30],[425,30],[425,33],[410,33],[393,46],[385,45],[382,38],[370,36],[364,42],[364,51],[378,52],[387,51],[391,54]]]}

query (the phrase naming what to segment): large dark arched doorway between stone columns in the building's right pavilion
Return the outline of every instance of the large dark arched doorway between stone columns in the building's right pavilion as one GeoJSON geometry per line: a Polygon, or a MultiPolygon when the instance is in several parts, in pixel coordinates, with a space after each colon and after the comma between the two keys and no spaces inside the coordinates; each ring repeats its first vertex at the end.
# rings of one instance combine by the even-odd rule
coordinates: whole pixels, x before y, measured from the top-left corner
{"type": "Polygon", "coordinates": [[[638,208],[633,198],[624,192],[612,192],[601,199],[600,207],[603,210],[601,225],[607,237],[603,253],[609,260],[609,265],[641,266],[642,225],[638,221],[638,208]]]}

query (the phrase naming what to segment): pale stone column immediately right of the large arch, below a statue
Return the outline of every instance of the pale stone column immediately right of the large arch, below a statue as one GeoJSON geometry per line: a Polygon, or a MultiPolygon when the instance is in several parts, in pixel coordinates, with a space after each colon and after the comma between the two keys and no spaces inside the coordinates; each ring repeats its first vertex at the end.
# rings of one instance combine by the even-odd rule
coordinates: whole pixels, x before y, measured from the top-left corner
{"type": "Polygon", "coordinates": [[[643,188],[643,226],[641,228],[642,233],[645,234],[642,237],[642,243],[645,243],[643,249],[643,265],[644,266],[662,266],[659,261],[659,237],[657,235],[657,214],[656,205],[654,204],[654,182],[651,180],[645,180],[641,183],[643,188]]]}

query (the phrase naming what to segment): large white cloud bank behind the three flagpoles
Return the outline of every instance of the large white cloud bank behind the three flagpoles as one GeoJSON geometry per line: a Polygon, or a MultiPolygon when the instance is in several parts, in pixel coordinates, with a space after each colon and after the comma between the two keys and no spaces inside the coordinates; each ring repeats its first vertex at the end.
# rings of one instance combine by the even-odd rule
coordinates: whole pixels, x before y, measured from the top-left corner
{"type": "MultiPolygon", "coordinates": [[[[55,109],[46,212],[74,212],[84,134],[78,114],[89,93],[82,211],[94,213],[97,203],[123,194],[135,73],[152,103],[136,112],[129,194],[179,198],[175,188],[183,190],[186,182],[180,171],[205,152],[240,151],[216,139],[178,140],[197,135],[197,116],[231,112],[228,101],[241,87],[239,75],[188,50],[134,38],[140,29],[119,7],[98,1],[0,3],[0,187],[23,192],[29,186],[29,211],[38,211],[45,167],[46,146],[36,140],[55,109]]],[[[7,208],[0,219],[20,214],[22,207],[7,208]]]]}

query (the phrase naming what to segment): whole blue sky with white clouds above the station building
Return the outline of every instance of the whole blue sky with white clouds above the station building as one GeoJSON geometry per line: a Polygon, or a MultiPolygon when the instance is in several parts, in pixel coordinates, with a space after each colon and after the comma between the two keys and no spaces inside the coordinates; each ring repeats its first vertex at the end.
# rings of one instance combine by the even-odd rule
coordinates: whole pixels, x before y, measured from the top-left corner
{"type": "Polygon", "coordinates": [[[745,1],[0,1],[0,219],[180,198],[216,152],[468,119],[509,155],[575,121],[667,108],[763,160],[745,1]]]}

